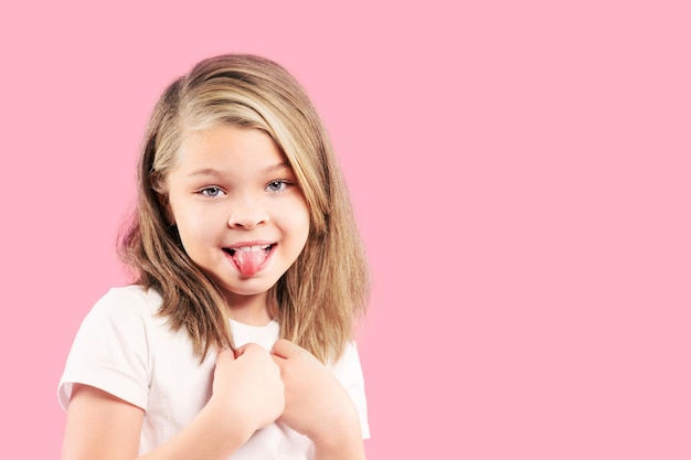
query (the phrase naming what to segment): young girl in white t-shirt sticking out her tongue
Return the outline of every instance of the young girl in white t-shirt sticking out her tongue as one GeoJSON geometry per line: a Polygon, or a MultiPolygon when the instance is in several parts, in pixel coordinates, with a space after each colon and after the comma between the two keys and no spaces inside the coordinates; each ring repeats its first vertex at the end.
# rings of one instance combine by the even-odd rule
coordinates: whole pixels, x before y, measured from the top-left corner
{"type": "Polygon", "coordinates": [[[295,78],[252,55],[199,63],[153,110],[138,195],[136,284],[94,306],[60,382],[63,460],[363,459],[369,274],[295,78]]]}

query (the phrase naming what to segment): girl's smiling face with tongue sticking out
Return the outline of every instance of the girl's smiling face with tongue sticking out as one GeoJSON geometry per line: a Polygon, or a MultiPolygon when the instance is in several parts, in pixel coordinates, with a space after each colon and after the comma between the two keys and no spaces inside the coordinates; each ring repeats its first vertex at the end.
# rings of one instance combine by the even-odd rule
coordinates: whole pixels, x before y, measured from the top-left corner
{"type": "Polygon", "coordinates": [[[231,308],[252,299],[265,307],[309,233],[305,196],[272,138],[235,126],[190,135],[168,191],[184,250],[231,308]]]}

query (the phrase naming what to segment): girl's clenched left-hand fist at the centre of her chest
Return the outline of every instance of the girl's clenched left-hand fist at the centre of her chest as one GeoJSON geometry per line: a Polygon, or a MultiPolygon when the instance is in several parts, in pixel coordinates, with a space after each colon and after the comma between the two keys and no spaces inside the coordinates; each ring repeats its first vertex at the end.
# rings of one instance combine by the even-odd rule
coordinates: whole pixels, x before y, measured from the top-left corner
{"type": "Polygon", "coordinates": [[[255,343],[235,352],[230,349],[219,352],[212,391],[215,404],[234,418],[228,425],[244,420],[249,436],[274,422],[286,404],[278,366],[270,354],[255,343]]]}

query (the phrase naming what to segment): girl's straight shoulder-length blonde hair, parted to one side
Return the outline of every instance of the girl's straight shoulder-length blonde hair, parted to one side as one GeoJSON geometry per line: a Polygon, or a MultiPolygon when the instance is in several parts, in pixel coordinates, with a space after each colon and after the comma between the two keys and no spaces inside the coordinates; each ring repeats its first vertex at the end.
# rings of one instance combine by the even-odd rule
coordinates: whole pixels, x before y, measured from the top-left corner
{"type": "Polygon", "coordinates": [[[268,133],[297,176],[309,236],[269,291],[272,313],[281,338],[322,362],[336,360],[364,312],[369,269],[327,131],[304,88],[275,62],[246,54],[208,58],[166,89],[145,136],[137,208],[120,255],[137,284],[161,293],[160,314],[173,330],[187,329],[200,359],[212,346],[233,346],[224,296],[185,254],[166,213],[166,181],[183,138],[224,124],[268,133]]]}

